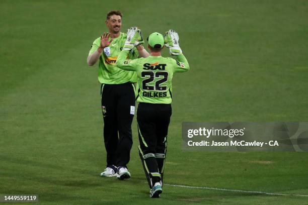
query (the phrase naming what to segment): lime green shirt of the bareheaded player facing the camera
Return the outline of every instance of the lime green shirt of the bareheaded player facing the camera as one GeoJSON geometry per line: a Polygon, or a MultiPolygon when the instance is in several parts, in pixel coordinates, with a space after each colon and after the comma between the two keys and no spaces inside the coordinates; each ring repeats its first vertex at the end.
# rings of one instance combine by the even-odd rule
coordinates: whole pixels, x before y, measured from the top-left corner
{"type": "MultiPolygon", "coordinates": [[[[117,38],[114,38],[110,45],[104,48],[100,56],[98,80],[104,84],[121,84],[125,82],[136,82],[136,73],[133,71],[122,70],[117,67],[116,60],[120,54],[126,41],[126,34],[121,33],[117,38]]],[[[110,39],[109,39],[110,40],[110,39]]],[[[89,55],[93,54],[101,45],[101,37],[97,38],[91,47],[89,55]]],[[[129,52],[128,58],[138,58],[137,49],[134,48],[129,52]]]]}

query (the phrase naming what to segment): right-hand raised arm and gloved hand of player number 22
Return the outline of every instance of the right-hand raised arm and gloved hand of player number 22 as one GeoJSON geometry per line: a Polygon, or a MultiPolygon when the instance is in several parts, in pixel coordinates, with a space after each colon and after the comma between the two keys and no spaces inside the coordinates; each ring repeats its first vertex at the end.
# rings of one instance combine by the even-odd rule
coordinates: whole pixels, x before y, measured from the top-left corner
{"type": "Polygon", "coordinates": [[[164,36],[165,46],[169,48],[170,54],[176,56],[177,66],[175,72],[186,72],[189,70],[189,64],[187,59],[182,53],[182,49],[179,44],[179,35],[174,30],[169,30],[164,36]]]}

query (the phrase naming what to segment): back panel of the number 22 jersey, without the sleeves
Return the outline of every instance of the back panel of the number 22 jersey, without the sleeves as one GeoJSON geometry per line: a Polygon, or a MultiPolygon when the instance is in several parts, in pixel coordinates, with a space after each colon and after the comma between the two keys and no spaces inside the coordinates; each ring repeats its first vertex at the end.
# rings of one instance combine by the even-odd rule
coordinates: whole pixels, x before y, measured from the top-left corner
{"type": "Polygon", "coordinates": [[[137,102],[171,104],[172,77],[179,62],[162,56],[138,59],[137,102]]]}

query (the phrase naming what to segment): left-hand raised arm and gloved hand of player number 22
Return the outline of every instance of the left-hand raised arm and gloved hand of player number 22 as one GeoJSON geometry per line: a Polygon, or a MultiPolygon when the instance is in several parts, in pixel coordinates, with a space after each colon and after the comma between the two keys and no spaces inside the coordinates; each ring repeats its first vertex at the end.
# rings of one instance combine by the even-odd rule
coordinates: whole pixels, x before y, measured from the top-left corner
{"type": "MultiPolygon", "coordinates": [[[[136,70],[137,60],[127,60],[127,56],[135,45],[139,45],[140,30],[137,27],[131,27],[127,30],[127,38],[122,51],[116,61],[117,67],[123,70],[136,70]]],[[[142,38],[142,37],[141,37],[142,38]]],[[[143,40],[142,40],[143,42],[143,40]]]]}

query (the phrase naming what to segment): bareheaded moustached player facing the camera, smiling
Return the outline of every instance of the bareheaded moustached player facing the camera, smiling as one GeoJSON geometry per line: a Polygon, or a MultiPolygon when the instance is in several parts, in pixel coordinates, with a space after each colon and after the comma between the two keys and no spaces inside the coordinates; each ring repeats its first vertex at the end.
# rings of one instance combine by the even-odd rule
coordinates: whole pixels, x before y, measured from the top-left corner
{"type": "MultiPolygon", "coordinates": [[[[134,84],[137,80],[133,71],[122,70],[115,64],[124,47],[127,34],[121,32],[122,14],[111,11],[107,14],[109,32],[97,38],[91,47],[87,63],[99,61],[98,80],[101,83],[101,104],[104,119],[104,143],[107,152],[107,167],[101,176],[129,178],[127,164],[132,147],[131,123],[135,113],[134,84]]],[[[143,48],[141,33],[138,33],[129,59],[149,54],[143,48]]]]}

